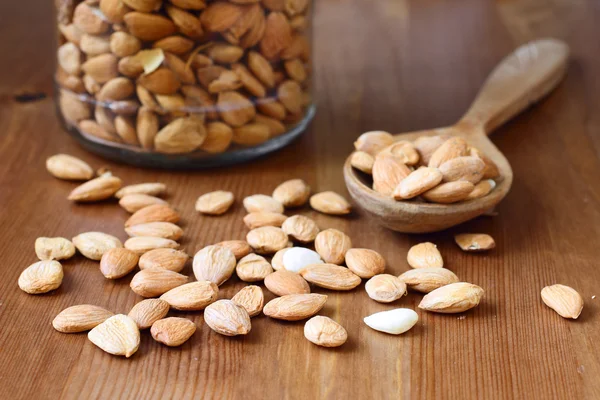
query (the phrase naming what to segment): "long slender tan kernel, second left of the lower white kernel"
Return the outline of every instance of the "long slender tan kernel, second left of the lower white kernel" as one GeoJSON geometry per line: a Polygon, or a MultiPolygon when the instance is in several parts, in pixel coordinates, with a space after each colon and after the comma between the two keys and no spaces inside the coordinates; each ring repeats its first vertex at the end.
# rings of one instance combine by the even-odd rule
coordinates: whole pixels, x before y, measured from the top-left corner
{"type": "Polygon", "coordinates": [[[321,311],[326,302],[327,296],[323,294],[290,294],[268,302],[263,308],[263,313],[284,321],[300,321],[321,311]]]}

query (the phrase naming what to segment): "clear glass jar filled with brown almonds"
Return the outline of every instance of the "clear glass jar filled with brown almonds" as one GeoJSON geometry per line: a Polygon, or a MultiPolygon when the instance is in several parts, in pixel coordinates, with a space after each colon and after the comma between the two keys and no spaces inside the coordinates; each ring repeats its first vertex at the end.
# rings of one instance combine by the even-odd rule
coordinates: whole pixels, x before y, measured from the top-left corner
{"type": "Polygon", "coordinates": [[[310,0],[55,0],[57,105],[86,148],[204,167],[281,148],[314,116],[310,0]]]}

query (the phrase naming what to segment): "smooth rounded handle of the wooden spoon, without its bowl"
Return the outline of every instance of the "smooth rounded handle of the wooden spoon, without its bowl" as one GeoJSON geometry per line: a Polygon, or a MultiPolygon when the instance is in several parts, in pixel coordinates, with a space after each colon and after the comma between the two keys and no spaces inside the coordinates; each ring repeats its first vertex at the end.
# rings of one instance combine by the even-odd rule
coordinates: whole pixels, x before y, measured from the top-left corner
{"type": "Polygon", "coordinates": [[[522,45],[490,74],[460,124],[490,134],[554,89],[565,74],[568,56],[569,46],[555,39],[522,45]]]}

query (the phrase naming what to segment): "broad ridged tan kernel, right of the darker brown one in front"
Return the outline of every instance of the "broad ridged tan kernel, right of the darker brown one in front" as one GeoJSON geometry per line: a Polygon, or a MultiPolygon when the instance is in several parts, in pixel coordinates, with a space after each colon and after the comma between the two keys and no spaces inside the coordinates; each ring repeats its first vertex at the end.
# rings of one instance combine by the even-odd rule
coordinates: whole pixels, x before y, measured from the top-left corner
{"type": "Polygon", "coordinates": [[[248,311],[231,300],[219,300],[206,307],[204,321],[225,336],[247,335],[252,329],[248,311]]]}

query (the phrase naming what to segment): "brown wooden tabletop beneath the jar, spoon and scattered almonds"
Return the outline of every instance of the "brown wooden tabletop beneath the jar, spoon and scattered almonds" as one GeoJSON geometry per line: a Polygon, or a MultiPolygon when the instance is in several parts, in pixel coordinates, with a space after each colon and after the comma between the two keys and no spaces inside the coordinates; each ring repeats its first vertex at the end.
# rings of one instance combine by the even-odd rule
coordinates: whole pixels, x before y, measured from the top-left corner
{"type": "MultiPolygon", "coordinates": [[[[86,153],[60,126],[51,98],[54,57],[52,2],[0,4],[0,397],[218,399],[598,399],[600,398],[600,8],[572,0],[321,0],[316,4],[318,113],[302,139],[244,166],[199,172],[139,170],[86,153]],[[142,334],[131,359],[111,356],[85,334],[56,332],[64,308],[90,303],[127,313],[140,300],[130,277],[103,278],[81,256],[64,263],[59,290],[27,295],[17,286],[36,261],[39,236],[104,231],[121,239],[127,217],[116,203],[76,205],[73,184],[44,168],[58,152],[108,166],[126,183],[165,182],[181,210],[184,248],[194,254],[246,228],[238,201],[209,218],[194,211],[198,195],[233,191],[238,200],[270,193],[299,177],[315,190],[347,194],[342,162],[361,132],[403,132],[454,122],[491,68],[518,44],[554,36],[572,49],[566,80],[547,99],[494,134],[515,181],[495,217],[446,232],[409,236],[387,231],[357,210],[336,218],[306,209],[322,228],[347,232],[356,246],[381,252],[388,271],[408,269],[418,242],[438,244],[447,267],[485,289],[482,304],[461,315],[417,309],[420,295],[392,305],[370,300],[364,286],[327,292],[322,311],[346,327],[348,342],[324,349],[303,337],[303,323],[260,316],[247,337],[211,331],[202,313],[185,313],[198,331],[169,349],[142,334]],[[48,95],[45,99],[22,94],[48,95]],[[33,100],[33,101],[26,101],[33,100]],[[485,232],[487,254],[464,254],[456,232],[485,232]],[[540,290],[563,283],[585,299],[577,321],[543,305],[540,290]],[[401,336],[369,329],[362,318],[408,307],[420,320],[401,336]]],[[[184,270],[191,274],[191,267],[184,270]]],[[[222,297],[243,283],[227,282],[222,297]]],[[[266,292],[266,290],[265,290],[266,292]]],[[[319,291],[326,292],[326,291],[319,291]]],[[[270,294],[266,294],[268,299],[270,294]]]]}

